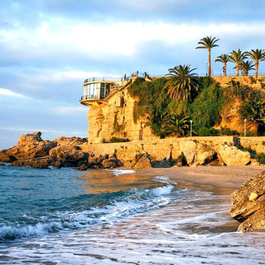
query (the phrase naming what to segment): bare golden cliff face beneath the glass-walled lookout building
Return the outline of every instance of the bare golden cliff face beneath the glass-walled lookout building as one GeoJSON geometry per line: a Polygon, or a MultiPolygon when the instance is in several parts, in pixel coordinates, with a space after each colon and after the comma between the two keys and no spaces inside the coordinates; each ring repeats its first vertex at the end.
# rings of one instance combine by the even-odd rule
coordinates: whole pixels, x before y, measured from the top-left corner
{"type": "MultiPolygon", "coordinates": [[[[92,106],[87,113],[89,122],[88,143],[99,143],[102,138],[109,139],[112,136],[141,140],[143,134],[142,124],[148,122],[148,117],[133,121],[133,99],[125,88],[114,94],[108,101],[108,105],[92,106]],[[120,103],[120,99],[122,104],[120,103]]],[[[149,127],[144,128],[145,139],[155,139],[149,127]]]]}

